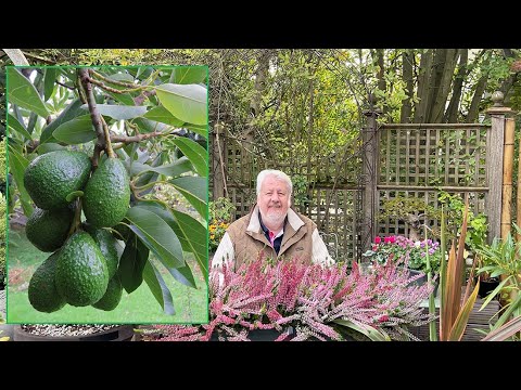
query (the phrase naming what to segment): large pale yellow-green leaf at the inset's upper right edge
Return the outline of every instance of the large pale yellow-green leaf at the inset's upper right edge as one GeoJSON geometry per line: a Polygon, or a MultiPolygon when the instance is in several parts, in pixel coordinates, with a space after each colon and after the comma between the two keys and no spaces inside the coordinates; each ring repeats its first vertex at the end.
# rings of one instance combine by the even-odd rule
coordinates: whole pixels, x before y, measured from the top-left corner
{"type": "Polygon", "coordinates": [[[160,102],[171,115],[194,125],[207,123],[207,91],[199,84],[166,83],[156,87],[160,102]]]}

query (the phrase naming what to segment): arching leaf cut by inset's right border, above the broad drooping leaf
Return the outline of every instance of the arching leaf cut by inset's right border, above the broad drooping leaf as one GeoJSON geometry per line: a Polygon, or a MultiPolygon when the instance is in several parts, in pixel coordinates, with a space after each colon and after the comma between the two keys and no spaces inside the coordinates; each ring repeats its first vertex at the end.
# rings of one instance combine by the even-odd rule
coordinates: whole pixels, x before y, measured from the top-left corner
{"type": "Polygon", "coordinates": [[[193,217],[177,210],[166,210],[162,205],[141,202],[136,206],[161,217],[176,233],[182,250],[192,252],[203,276],[208,276],[207,230],[193,217]]]}

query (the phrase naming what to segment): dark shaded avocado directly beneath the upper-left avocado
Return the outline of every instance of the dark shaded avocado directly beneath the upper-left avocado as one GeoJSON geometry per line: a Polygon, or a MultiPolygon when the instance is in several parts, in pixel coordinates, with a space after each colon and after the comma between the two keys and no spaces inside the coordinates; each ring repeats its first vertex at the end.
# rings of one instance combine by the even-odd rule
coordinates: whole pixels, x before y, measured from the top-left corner
{"type": "Polygon", "coordinates": [[[27,219],[25,234],[27,239],[41,251],[54,251],[67,239],[74,219],[74,209],[65,207],[56,210],[35,208],[27,219]]]}

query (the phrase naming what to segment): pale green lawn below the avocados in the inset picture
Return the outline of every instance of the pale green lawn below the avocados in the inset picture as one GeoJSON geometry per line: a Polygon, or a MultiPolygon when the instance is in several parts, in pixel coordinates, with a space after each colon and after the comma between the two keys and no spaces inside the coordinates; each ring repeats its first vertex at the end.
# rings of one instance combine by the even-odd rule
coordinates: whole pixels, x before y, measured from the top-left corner
{"type": "MultiPolygon", "coordinates": [[[[9,323],[24,324],[201,324],[208,321],[207,287],[191,253],[185,253],[192,272],[194,273],[196,289],[187,287],[162,269],[165,280],[174,298],[175,315],[163,313],[160,303],[149,289],[147,283],[130,295],[125,290],[119,306],[110,312],[92,307],[75,308],[65,306],[54,313],[36,311],[27,298],[27,285],[36,268],[50,253],[36,249],[23,232],[13,231],[9,236],[8,256],[8,307],[7,320],[9,323]]],[[[156,259],[152,259],[157,264],[156,259]]]]}

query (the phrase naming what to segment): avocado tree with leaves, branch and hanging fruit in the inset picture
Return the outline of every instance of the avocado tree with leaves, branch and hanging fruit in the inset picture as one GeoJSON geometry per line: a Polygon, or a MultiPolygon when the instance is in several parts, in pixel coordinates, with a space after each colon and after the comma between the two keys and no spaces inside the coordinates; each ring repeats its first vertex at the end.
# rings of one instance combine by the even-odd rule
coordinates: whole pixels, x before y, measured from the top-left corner
{"type": "MultiPolygon", "coordinates": [[[[166,314],[158,264],[207,280],[207,68],[9,67],[8,206],[49,258],[29,282],[42,312],[117,307],[144,281],[166,314]],[[175,188],[190,208],[156,196],[175,188]],[[123,245],[117,250],[117,246],[123,245]],[[53,283],[49,284],[48,281],[53,283]]],[[[164,274],[164,272],[163,272],[164,274]]]]}

